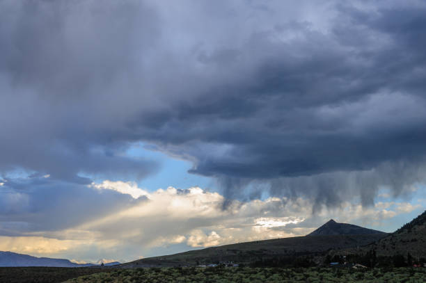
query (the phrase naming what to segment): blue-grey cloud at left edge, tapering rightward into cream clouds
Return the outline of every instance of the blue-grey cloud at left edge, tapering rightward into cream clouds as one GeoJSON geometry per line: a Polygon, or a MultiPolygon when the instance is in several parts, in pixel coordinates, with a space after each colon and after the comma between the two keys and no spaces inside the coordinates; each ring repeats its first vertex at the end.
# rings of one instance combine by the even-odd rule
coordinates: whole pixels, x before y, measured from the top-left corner
{"type": "Polygon", "coordinates": [[[0,234],[49,233],[99,219],[146,200],[45,177],[2,180],[0,234]]]}

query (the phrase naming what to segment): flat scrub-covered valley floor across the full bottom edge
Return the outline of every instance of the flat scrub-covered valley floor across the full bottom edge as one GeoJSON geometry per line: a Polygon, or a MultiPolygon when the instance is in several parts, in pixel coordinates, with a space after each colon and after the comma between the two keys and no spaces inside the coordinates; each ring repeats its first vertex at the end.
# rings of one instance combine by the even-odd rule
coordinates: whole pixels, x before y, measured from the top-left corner
{"type": "Polygon", "coordinates": [[[0,268],[0,282],[426,282],[426,268],[0,268]],[[68,280],[68,281],[67,281],[68,280]]]}

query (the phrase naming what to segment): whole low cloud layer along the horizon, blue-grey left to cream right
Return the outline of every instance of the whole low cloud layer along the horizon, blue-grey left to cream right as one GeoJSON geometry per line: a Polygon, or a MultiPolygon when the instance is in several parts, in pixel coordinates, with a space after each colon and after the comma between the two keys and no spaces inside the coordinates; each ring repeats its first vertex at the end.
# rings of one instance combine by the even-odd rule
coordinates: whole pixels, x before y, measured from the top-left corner
{"type": "Polygon", "coordinates": [[[2,206],[8,211],[1,212],[0,250],[85,261],[101,257],[129,261],[214,245],[303,236],[330,218],[384,229],[398,216],[422,209],[421,202],[384,199],[369,209],[344,202],[313,215],[312,203],[300,197],[234,200],[223,209],[226,198],[202,188],[169,187],[148,193],[136,184],[108,180],[81,186],[81,191],[69,195],[50,191],[50,205],[34,206],[40,203],[40,187],[22,192],[7,186],[9,197],[1,193],[1,200],[24,197],[28,205],[2,206]],[[64,199],[73,205],[64,204],[64,199]]]}

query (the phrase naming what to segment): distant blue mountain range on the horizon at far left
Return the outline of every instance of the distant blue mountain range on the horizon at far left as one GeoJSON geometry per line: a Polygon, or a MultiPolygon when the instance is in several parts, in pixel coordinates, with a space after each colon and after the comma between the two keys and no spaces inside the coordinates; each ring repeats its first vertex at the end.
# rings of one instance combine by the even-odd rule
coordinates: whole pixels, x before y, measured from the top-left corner
{"type": "MultiPolygon", "coordinates": [[[[120,264],[118,261],[104,264],[113,266],[120,264]]],[[[99,266],[100,264],[75,264],[68,259],[51,259],[49,257],[32,257],[28,254],[17,254],[15,252],[0,252],[0,266],[49,266],[49,267],[84,267],[99,266]]]]}

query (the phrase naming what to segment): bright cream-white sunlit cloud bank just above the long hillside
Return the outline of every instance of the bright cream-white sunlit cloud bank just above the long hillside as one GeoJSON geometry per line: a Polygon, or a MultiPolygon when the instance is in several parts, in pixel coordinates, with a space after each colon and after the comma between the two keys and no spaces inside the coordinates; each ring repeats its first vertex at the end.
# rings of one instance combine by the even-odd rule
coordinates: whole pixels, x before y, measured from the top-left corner
{"type": "MultiPolygon", "coordinates": [[[[123,182],[109,181],[107,184],[110,189],[126,192],[122,189],[123,182]]],[[[135,184],[132,188],[140,190],[135,184]]],[[[204,191],[199,187],[186,190],[168,187],[145,195],[148,197],[147,202],[79,228],[92,229],[102,237],[118,237],[151,248],[184,241],[190,247],[197,248],[239,241],[303,236],[329,218],[359,225],[375,225],[403,212],[402,209],[396,209],[400,204],[395,202],[378,202],[372,208],[345,202],[338,209],[324,209],[319,213],[317,222],[310,223],[304,220],[313,217],[310,209],[312,206],[301,198],[289,200],[285,197],[271,197],[250,202],[234,201],[227,209],[223,209],[223,195],[204,191]],[[307,226],[306,223],[310,224],[307,226]]],[[[404,204],[405,207],[407,204],[404,204]]]]}

